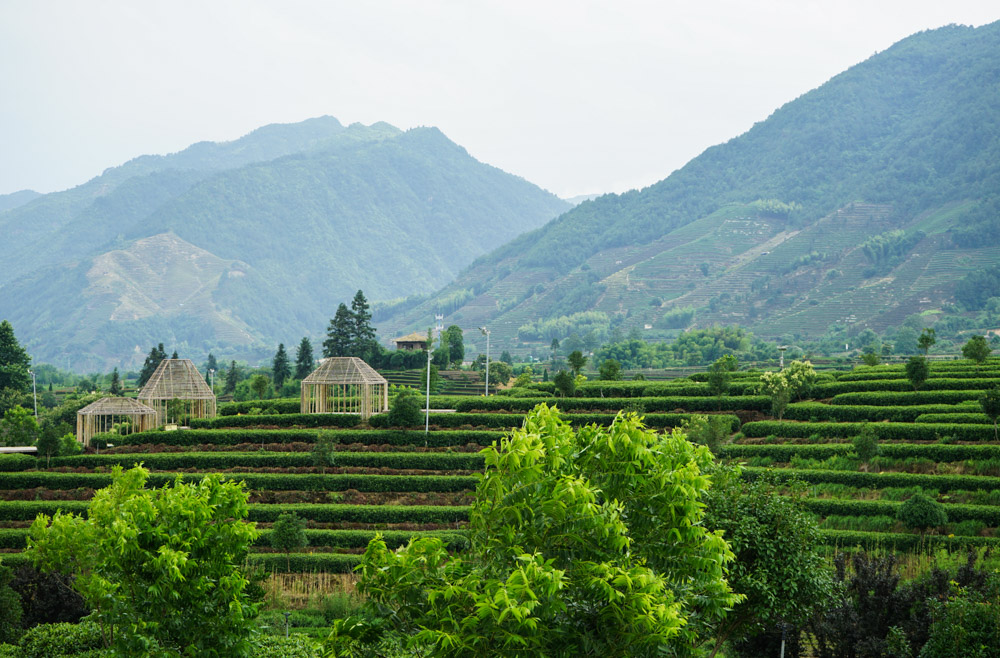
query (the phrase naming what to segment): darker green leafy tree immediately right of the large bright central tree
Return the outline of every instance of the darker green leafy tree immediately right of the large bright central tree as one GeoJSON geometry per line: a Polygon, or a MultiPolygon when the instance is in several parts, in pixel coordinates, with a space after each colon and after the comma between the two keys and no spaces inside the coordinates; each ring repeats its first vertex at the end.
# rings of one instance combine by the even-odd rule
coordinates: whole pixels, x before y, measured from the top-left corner
{"type": "Polygon", "coordinates": [[[705,527],[723,531],[736,554],[729,585],[746,597],[716,627],[711,655],[726,641],[803,624],[822,608],[833,583],[812,514],[773,482],[742,479],[735,466],[712,472],[705,505],[705,527]]]}

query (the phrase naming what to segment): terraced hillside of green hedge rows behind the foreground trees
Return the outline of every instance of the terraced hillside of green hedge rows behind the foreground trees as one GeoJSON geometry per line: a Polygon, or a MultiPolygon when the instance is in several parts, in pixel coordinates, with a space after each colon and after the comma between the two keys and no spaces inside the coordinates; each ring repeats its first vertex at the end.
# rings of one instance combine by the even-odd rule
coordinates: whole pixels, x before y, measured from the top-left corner
{"type": "Polygon", "coordinates": [[[609,424],[622,410],[645,415],[660,430],[682,426],[694,413],[720,415],[732,439],[722,459],[805,483],[789,492],[819,518],[825,540],[840,546],[879,544],[918,550],[937,544],[1000,543],[1000,441],[977,399],[1000,384],[1000,360],[985,366],[938,362],[919,391],[898,366],[862,367],[818,376],[809,399],[772,418],[770,398],[758,394],[757,372],[735,373],[724,396],[713,396],[705,376],[661,382],[587,382],[576,397],[552,397],[551,384],[531,386],[534,397],[433,396],[431,432],[387,427],[384,416],[362,424],[356,416],[298,413],[296,400],[222,405],[211,420],[190,429],[118,437],[107,447],[44,461],[0,456],[0,550],[16,562],[27,527],[39,513],[85,513],[94,490],[110,483],[110,469],[142,463],[151,483],[222,472],[251,491],[250,519],[264,530],[253,555],[275,571],[350,570],[375,532],[390,545],[414,533],[465,545],[463,527],[481,471],[478,451],[520,425],[536,404],[557,404],[575,425],[609,424]],[[256,403],[260,405],[261,403],[256,403]],[[741,424],[742,423],[742,424],[741,424]],[[867,428],[867,430],[866,430],[867,428]],[[737,431],[738,430],[738,431],[737,431]],[[862,463],[853,437],[874,433],[878,456],[862,463]],[[318,438],[335,444],[318,460],[318,438]],[[947,522],[923,534],[898,519],[917,493],[936,499],[947,522]],[[269,546],[271,524],[283,512],[308,521],[309,545],[291,555],[269,546]]]}

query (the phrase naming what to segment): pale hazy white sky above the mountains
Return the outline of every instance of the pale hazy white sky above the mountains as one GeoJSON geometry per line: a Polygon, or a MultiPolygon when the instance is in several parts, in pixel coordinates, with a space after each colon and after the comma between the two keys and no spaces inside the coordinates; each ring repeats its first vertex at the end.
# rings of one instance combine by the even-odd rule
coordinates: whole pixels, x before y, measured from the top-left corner
{"type": "Polygon", "coordinates": [[[0,194],[329,114],[431,125],[563,197],[666,177],[996,0],[0,0],[0,194]]]}

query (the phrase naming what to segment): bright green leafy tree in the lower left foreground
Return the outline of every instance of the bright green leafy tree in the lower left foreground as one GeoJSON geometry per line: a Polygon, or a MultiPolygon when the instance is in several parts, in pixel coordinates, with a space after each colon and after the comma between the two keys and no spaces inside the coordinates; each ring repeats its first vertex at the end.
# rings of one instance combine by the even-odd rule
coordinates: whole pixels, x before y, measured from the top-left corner
{"type": "Polygon", "coordinates": [[[258,532],[247,493],[218,474],[146,488],[149,472],[115,466],[87,517],[40,514],[27,555],[75,576],[105,646],[138,655],[246,656],[257,606],[240,572],[258,532]]]}

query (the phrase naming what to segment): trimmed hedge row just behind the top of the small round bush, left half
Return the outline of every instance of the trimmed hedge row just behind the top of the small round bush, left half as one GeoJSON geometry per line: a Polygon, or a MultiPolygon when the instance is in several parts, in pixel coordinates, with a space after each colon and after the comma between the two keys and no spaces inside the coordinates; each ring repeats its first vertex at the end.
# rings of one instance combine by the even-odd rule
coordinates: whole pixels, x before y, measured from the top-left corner
{"type": "MultiPolygon", "coordinates": [[[[0,521],[31,521],[38,514],[56,510],[86,514],[89,503],[80,500],[0,501],[0,521]]],[[[459,523],[468,520],[469,508],[446,505],[250,505],[248,521],[274,522],[286,512],[319,523],[459,523]]]]}

